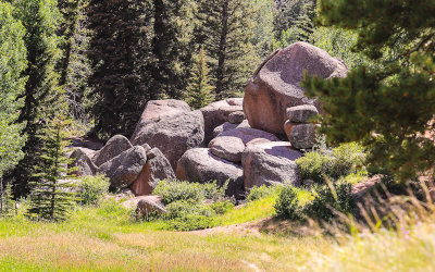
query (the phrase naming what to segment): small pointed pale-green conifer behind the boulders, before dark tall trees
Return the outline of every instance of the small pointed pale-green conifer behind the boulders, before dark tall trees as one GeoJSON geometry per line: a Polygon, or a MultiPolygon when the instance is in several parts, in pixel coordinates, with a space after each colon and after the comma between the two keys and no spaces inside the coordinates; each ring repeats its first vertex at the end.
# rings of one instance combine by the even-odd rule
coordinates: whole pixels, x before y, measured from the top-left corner
{"type": "Polygon", "coordinates": [[[192,109],[200,109],[214,100],[213,86],[209,84],[209,67],[206,62],[203,48],[196,58],[189,85],[186,91],[186,101],[192,109]]]}

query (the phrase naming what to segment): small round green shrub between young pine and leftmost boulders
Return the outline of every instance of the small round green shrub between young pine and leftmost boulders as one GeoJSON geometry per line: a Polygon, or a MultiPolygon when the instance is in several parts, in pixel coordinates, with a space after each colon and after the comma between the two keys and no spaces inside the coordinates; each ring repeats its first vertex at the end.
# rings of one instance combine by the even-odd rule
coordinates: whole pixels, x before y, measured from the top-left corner
{"type": "Polygon", "coordinates": [[[82,205],[98,205],[109,191],[109,178],[103,175],[85,176],[78,185],[78,197],[82,205]]]}

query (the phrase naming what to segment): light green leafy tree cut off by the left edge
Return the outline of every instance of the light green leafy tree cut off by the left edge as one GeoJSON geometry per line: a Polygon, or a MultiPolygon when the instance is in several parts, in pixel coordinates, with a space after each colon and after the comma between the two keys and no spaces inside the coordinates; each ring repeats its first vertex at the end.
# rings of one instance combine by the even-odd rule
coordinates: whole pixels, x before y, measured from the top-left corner
{"type": "Polygon", "coordinates": [[[23,123],[16,123],[27,81],[25,29],[13,18],[12,5],[0,2],[0,178],[23,158],[23,123]]]}

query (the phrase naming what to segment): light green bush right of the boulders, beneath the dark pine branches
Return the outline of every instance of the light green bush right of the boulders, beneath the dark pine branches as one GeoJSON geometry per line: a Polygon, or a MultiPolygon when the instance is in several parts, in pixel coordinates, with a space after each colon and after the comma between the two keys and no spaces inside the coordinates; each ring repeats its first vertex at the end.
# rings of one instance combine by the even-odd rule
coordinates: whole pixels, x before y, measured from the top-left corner
{"type": "Polygon", "coordinates": [[[363,148],[356,144],[345,144],[332,151],[314,150],[306,153],[296,163],[299,166],[302,180],[312,180],[318,184],[325,184],[325,178],[338,180],[355,173],[364,173],[365,153],[363,148]]]}

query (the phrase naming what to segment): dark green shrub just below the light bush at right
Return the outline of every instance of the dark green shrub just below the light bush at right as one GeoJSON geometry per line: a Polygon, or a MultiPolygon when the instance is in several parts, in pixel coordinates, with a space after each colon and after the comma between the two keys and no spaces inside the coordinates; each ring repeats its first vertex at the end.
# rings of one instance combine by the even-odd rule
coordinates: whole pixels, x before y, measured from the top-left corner
{"type": "Polygon", "coordinates": [[[334,211],[349,213],[355,208],[352,186],[346,182],[316,186],[313,195],[314,199],[303,208],[303,213],[310,218],[331,221],[334,211]]]}

